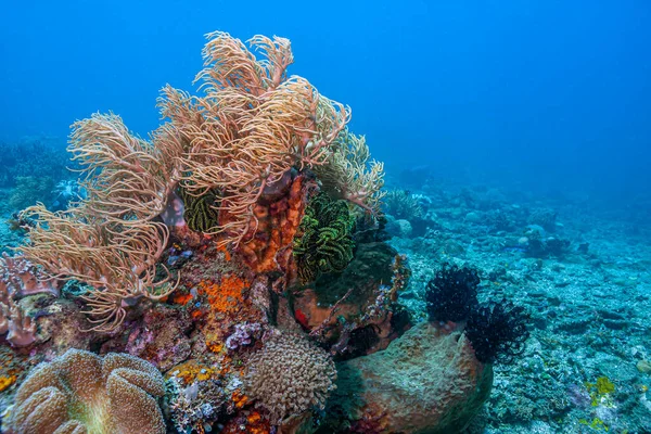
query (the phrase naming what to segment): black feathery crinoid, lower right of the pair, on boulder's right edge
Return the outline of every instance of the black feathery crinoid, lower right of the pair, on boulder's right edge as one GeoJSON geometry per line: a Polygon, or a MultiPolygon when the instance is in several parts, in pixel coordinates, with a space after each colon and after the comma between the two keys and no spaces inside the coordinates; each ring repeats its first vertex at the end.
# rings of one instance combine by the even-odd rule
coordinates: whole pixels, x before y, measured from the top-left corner
{"type": "Polygon", "coordinates": [[[473,310],[465,323],[465,336],[477,360],[483,363],[510,363],[524,352],[529,336],[528,315],[522,306],[502,298],[473,310]]]}

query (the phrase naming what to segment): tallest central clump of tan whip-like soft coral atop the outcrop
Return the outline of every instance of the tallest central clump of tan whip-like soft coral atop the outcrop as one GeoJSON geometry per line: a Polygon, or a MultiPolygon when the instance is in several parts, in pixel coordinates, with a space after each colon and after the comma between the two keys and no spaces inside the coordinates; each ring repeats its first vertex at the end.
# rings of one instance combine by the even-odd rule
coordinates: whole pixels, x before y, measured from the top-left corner
{"type": "Polygon", "coordinates": [[[293,168],[323,165],[349,119],[349,108],[319,94],[302,77],[286,78],[290,41],[256,36],[245,46],[225,33],[207,36],[203,97],[166,87],[159,100],[189,148],[181,157],[184,186],[200,195],[217,189],[227,218],[214,228],[240,244],[265,190],[293,168]]]}

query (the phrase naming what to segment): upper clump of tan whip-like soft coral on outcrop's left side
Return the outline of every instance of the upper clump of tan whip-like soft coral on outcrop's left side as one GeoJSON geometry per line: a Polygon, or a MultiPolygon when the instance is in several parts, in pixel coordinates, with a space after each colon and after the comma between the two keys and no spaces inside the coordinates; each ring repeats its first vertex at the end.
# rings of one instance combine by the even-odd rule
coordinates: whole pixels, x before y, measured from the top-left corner
{"type": "Polygon", "coordinates": [[[135,137],[114,114],[73,124],[68,151],[86,175],[87,213],[132,224],[165,209],[178,181],[182,145],[166,127],[153,137],[156,145],[135,137]]]}

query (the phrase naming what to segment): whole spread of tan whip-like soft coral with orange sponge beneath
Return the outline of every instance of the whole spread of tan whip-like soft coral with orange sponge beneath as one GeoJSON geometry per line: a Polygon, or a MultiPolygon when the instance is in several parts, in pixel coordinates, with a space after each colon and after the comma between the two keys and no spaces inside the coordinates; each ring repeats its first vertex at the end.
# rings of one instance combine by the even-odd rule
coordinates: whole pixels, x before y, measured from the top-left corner
{"type": "Polygon", "coordinates": [[[115,330],[139,299],[159,301],[176,288],[169,275],[156,279],[169,230],[154,219],[186,226],[179,186],[192,227],[219,234],[219,245],[241,246],[258,272],[283,268],[291,256],[293,232],[317,189],[299,171],[322,166],[323,181],[336,174],[343,197],[376,208],[382,165],[367,167],[368,146],[345,129],[349,110],[304,78],[288,78],[288,39],[250,42],[265,59],[226,33],[208,35],[197,75],[204,95],[166,87],[158,104],[169,122],[151,141],[114,114],[75,123],[68,150],[87,197],[65,212],[38,205],[24,213],[36,226],[23,254],[53,276],[91,286],[82,299],[93,329],[115,330]]]}

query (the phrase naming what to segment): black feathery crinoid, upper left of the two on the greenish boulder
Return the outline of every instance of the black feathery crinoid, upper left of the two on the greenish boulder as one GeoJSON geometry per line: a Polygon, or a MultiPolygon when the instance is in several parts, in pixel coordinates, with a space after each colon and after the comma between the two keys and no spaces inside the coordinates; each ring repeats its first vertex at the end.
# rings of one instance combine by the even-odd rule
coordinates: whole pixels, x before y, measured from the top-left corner
{"type": "Polygon", "coordinates": [[[430,321],[464,321],[477,308],[480,273],[475,268],[444,264],[425,291],[430,321]]]}

